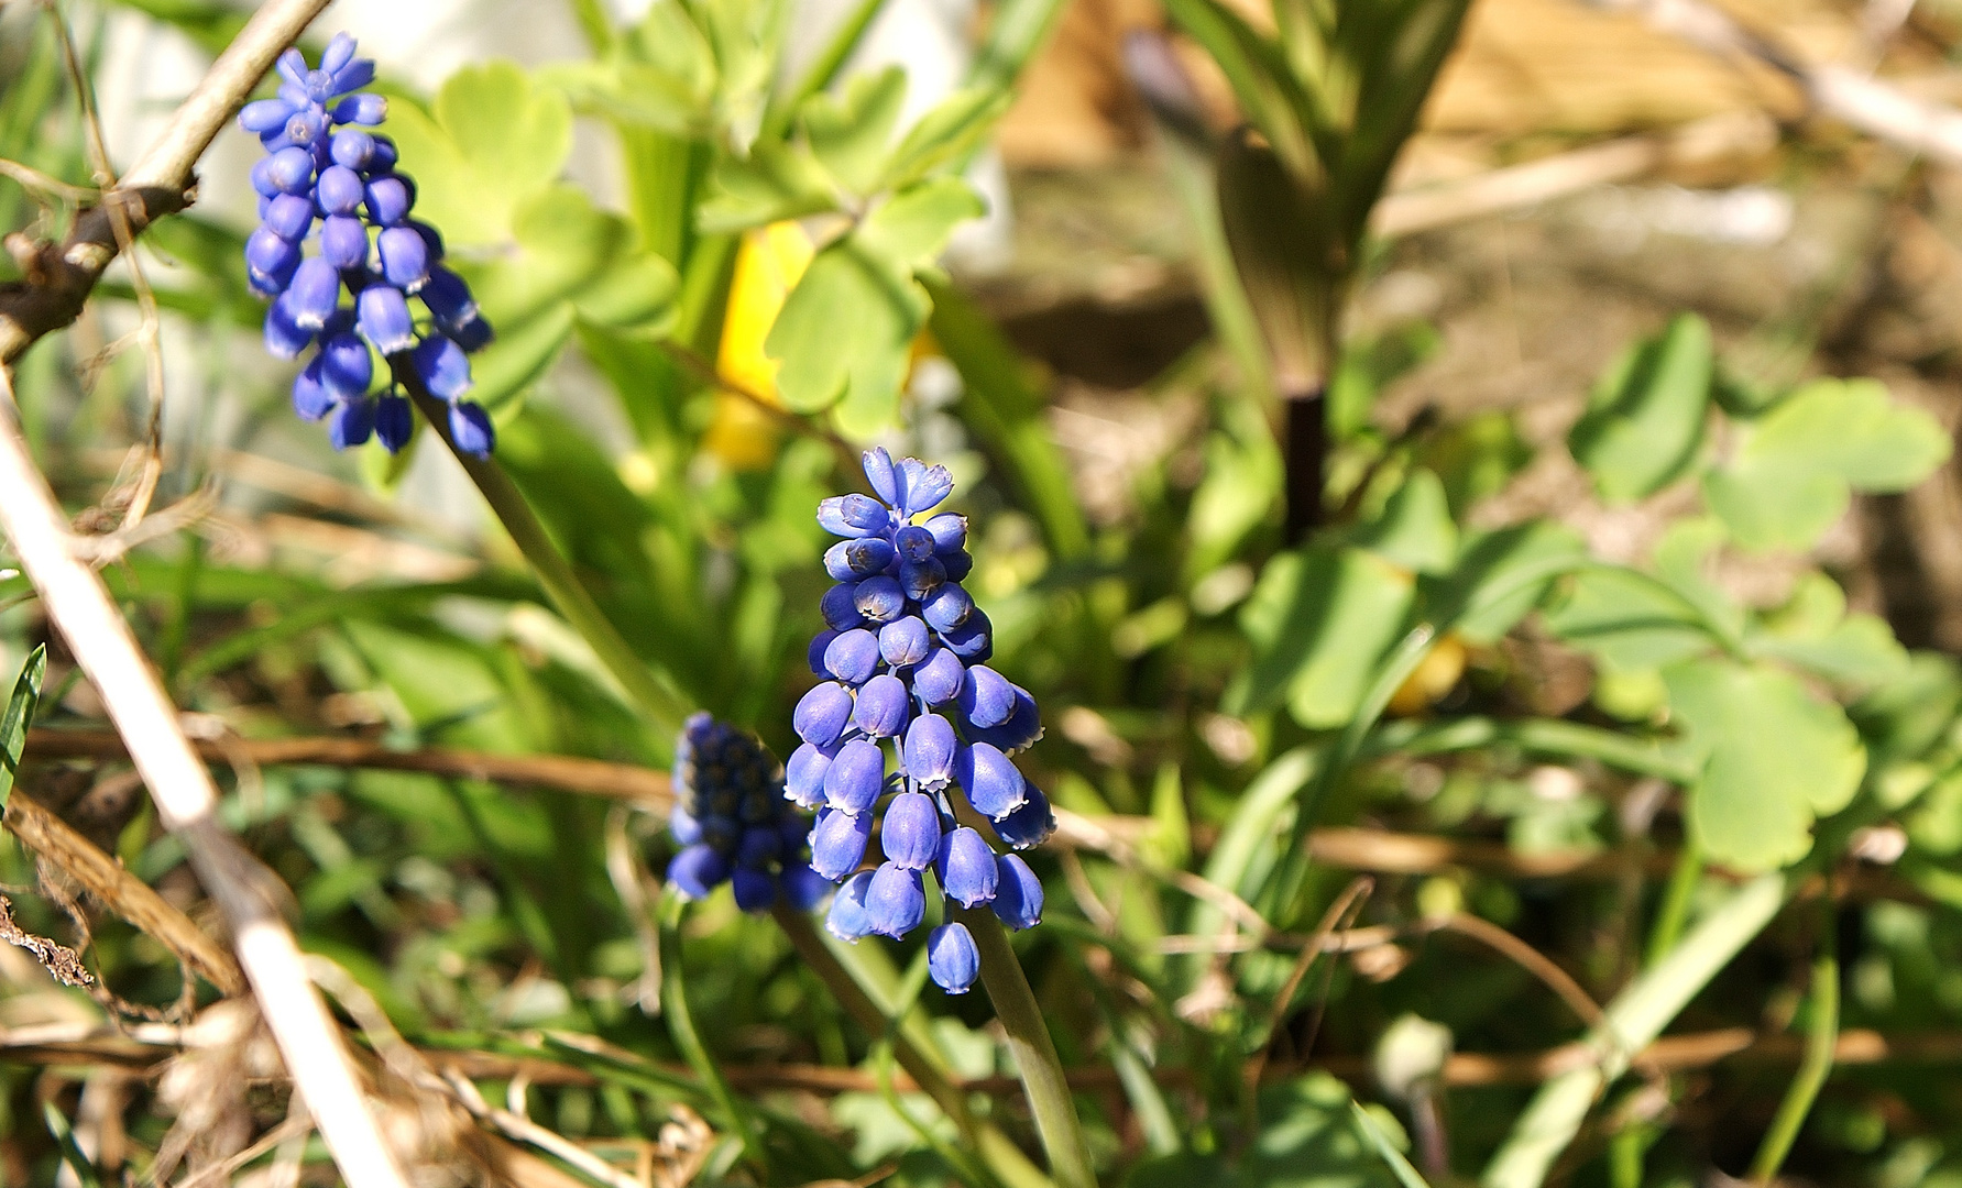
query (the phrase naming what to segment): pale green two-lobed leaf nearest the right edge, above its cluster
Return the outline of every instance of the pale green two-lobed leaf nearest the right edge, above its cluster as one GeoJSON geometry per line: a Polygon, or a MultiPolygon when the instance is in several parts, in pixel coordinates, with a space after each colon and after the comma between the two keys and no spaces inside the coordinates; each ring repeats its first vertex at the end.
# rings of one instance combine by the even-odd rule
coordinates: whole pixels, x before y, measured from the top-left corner
{"type": "Polygon", "coordinates": [[[1703,478],[1703,498],[1750,549],[1805,549],[1852,490],[1905,490],[1950,453],[1940,423],[1889,400],[1878,380],[1815,380],[1742,425],[1736,453],[1703,478]]]}

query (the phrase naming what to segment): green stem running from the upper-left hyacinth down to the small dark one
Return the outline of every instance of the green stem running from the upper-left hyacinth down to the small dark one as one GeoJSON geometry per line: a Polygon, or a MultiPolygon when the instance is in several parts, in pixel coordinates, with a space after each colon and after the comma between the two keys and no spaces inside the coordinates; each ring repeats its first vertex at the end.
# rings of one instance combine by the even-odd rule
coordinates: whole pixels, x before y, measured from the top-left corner
{"type": "Polygon", "coordinates": [[[593,594],[581,584],[579,574],[559,553],[557,545],[545,533],[545,525],[540,523],[538,514],[532,512],[532,504],[524,500],[524,492],[518,484],[510,480],[510,474],[502,467],[485,459],[473,459],[457,449],[457,443],[449,437],[449,414],[441,400],[430,396],[430,392],[416,378],[412,367],[396,367],[396,382],[408,388],[410,398],[416,408],[422,410],[424,420],[436,429],[436,435],[443,439],[449,453],[455,455],[457,463],[463,465],[463,472],[471,476],[477,490],[483,492],[485,502],[490,504],[490,512],[510,533],[512,543],[524,553],[524,559],[532,565],[532,572],[538,574],[538,584],[545,588],[551,604],[559,608],[565,621],[571,623],[573,631],[587,641],[593,655],[598,657],[606,670],[612,672],[620,688],[626,690],[634,706],[647,718],[649,725],[655,727],[657,737],[663,745],[671,745],[677,733],[681,733],[681,721],[689,716],[689,706],[681,692],[661,674],[655,674],[640,655],[628,647],[626,639],[612,625],[606,614],[593,602],[593,594]],[[404,374],[406,372],[406,374],[404,374]]]}

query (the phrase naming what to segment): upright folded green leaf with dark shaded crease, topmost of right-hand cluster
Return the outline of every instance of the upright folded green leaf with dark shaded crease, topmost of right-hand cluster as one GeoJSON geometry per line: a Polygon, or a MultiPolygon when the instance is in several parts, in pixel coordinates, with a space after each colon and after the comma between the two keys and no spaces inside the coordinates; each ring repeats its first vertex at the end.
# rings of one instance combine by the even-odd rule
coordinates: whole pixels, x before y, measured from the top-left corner
{"type": "Polygon", "coordinates": [[[1595,384],[1568,447],[1593,474],[1601,498],[1640,500],[1689,467],[1703,443],[1711,367],[1709,325],[1681,314],[1660,337],[1630,347],[1595,384]]]}

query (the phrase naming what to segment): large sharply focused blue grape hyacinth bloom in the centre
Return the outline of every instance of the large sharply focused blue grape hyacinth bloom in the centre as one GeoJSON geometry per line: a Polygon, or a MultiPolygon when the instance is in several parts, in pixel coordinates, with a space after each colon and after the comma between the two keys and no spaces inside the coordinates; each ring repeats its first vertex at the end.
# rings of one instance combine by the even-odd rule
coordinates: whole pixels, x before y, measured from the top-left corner
{"type": "MultiPolygon", "coordinates": [[[[926,921],[926,870],[942,898],[1034,927],[1042,882],[1012,851],[1048,839],[1056,814],[1010,757],[1042,737],[1042,719],[1026,688],[987,667],[993,631],[961,588],[973,569],[967,518],[928,516],[954,478],[918,459],[895,463],[883,449],[865,453],[865,478],[879,498],[818,504],[818,523],[844,539],[824,553],[838,584],[820,602],[826,629],[810,641],[810,668],[826,680],[797,704],[802,745],[783,786],[818,810],[812,870],[844,882],[826,927],[848,941],[904,937],[926,921]],[[987,817],[1010,853],[961,825],[955,798],[987,817]],[[881,800],[885,861],[859,870],[881,800]]],[[[934,927],[926,955],[948,994],[965,994],[981,968],[973,935],[955,919],[934,927]]]]}

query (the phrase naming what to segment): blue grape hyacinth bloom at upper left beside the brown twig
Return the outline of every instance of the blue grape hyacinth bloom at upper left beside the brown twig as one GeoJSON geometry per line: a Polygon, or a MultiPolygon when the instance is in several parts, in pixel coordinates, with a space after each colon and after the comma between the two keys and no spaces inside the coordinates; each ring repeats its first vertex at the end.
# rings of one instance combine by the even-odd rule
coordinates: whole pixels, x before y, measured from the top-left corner
{"type": "Polygon", "coordinates": [[[490,418],[463,394],[465,355],[490,341],[490,323],[469,284],[443,267],[436,227],[410,218],[416,182],[396,169],[394,141],[367,131],[387,114],[383,96],[359,94],[375,63],[357,59],[355,39],[337,33],[320,69],[288,49],[279,76],[279,98],[239,112],[267,151],[251,171],[259,229],[245,241],[245,272],[273,300],[267,349],[298,359],[316,347],[292,380],[292,410],[326,420],[334,449],[381,437],[394,453],[408,445],[414,412],[392,376],[414,374],[449,406],[457,449],[489,457],[490,418]],[[308,245],[318,251],[306,255],[308,245]],[[428,312],[420,325],[408,298],[428,312]]]}

